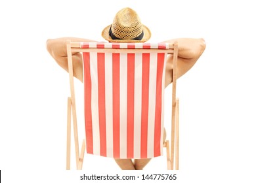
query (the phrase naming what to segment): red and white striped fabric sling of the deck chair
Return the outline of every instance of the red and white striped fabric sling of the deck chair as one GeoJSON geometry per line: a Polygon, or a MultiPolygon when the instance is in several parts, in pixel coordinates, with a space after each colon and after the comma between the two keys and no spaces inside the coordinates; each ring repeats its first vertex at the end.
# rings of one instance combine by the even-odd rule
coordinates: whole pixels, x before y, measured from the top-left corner
{"type": "MultiPolygon", "coordinates": [[[[81,48],[168,44],[84,42],[81,48]]],[[[83,52],[87,153],[111,158],[162,155],[166,54],[83,52]]]]}

